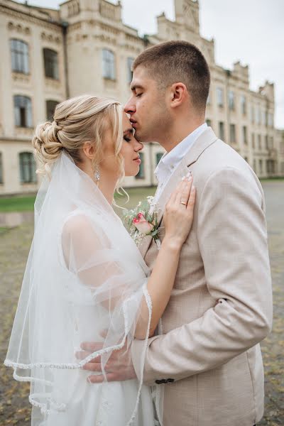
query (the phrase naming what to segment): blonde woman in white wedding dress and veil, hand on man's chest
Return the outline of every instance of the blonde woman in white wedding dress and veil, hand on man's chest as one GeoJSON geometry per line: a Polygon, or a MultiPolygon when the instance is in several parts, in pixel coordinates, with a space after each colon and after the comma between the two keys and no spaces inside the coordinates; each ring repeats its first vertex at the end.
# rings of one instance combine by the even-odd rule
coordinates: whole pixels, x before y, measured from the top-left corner
{"type": "Polygon", "coordinates": [[[62,102],[52,123],[37,126],[33,147],[44,178],[5,365],[31,382],[33,426],[154,425],[151,389],[142,379],[108,382],[105,366],[114,351],[130,354],[136,338],[145,342],[143,371],[192,224],[191,179],[167,204],[149,275],[112,208],[124,175],[138,173],[143,148],[121,104],[88,95],[62,102]],[[102,349],[79,360],[84,341],[102,349]],[[105,380],[92,384],[83,367],[97,356],[105,380]]]}

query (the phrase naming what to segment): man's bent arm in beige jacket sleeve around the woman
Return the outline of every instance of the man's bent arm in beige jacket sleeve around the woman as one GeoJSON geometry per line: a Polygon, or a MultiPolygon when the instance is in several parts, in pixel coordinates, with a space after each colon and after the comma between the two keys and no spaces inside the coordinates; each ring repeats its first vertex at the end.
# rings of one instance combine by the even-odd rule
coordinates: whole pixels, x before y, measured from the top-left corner
{"type": "MultiPolygon", "coordinates": [[[[197,320],[149,340],[144,383],[208,371],[270,331],[271,273],[263,203],[253,178],[235,168],[219,170],[207,180],[200,195],[197,235],[207,288],[217,304],[197,320]]],[[[132,345],[137,374],[141,344],[132,345]]]]}

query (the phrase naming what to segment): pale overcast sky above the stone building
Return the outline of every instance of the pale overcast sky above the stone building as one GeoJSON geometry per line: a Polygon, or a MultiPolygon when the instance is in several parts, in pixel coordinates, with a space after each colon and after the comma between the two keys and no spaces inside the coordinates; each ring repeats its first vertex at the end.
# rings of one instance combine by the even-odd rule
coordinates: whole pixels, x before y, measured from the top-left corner
{"type": "MultiPolygon", "coordinates": [[[[29,0],[58,7],[63,0],[29,0]]],[[[116,3],[116,0],[109,0],[116,3]]],[[[22,3],[24,1],[21,1],[22,3]]],[[[174,18],[174,0],[121,0],[123,19],[139,33],[156,32],[155,16],[174,18]]],[[[284,0],[200,0],[200,29],[215,40],[215,60],[231,68],[249,65],[251,89],[275,83],[275,126],[284,129],[284,0]]]]}

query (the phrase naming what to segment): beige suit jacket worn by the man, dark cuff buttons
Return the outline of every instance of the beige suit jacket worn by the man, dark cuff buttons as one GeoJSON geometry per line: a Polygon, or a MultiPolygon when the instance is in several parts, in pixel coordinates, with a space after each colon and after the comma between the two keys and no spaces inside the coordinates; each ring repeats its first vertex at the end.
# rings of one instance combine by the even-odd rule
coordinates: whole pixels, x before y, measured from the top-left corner
{"type": "MultiPolygon", "coordinates": [[[[263,415],[258,342],[272,323],[263,190],[246,161],[208,128],[165,185],[160,219],[188,170],[197,188],[194,221],[163,331],[149,339],[143,381],[164,395],[163,426],[253,426],[263,415]]],[[[141,253],[153,268],[151,237],[141,253]]],[[[142,347],[133,342],[138,376],[142,347]]]]}

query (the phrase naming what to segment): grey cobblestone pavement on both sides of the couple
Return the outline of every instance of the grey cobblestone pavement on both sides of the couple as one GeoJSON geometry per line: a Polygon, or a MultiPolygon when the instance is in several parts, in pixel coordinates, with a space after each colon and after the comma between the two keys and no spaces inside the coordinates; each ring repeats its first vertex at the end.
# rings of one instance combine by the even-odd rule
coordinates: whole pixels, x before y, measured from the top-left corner
{"type": "MultiPolygon", "coordinates": [[[[284,182],[263,182],[273,276],[273,332],[262,344],[266,410],[261,426],[284,425],[284,182]]],[[[0,228],[0,425],[30,425],[28,384],[14,381],[3,366],[33,227],[0,228]]],[[[228,425],[229,426],[229,425],[228,425]]],[[[241,425],[240,425],[241,426],[241,425]]]]}

